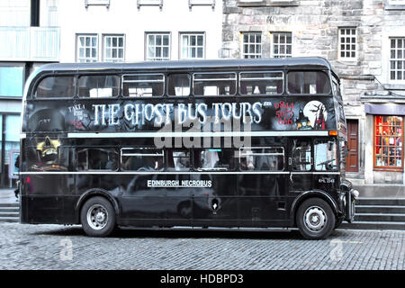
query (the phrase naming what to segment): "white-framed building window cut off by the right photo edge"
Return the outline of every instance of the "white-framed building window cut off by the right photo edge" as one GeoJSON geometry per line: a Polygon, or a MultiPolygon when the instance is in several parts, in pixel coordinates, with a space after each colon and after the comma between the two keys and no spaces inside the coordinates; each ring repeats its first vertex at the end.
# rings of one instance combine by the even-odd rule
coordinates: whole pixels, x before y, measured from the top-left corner
{"type": "Polygon", "coordinates": [[[405,80],[405,38],[391,38],[390,79],[405,80]]]}

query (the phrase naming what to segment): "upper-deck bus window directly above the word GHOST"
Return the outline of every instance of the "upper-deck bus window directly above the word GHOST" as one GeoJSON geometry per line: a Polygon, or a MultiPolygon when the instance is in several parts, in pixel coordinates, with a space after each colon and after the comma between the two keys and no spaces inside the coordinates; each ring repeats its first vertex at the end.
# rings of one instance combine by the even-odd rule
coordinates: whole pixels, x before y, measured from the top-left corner
{"type": "Polygon", "coordinates": [[[130,97],[163,96],[163,74],[134,74],[122,76],[122,94],[130,97]]]}

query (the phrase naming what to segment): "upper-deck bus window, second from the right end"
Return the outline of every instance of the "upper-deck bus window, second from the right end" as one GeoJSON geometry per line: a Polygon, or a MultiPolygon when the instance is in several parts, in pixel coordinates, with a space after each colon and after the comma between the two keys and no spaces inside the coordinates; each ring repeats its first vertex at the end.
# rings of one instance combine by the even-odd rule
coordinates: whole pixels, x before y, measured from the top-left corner
{"type": "Polygon", "coordinates": [[[240,94],[283,94],[283,72],[240,73],[240,94]]]}

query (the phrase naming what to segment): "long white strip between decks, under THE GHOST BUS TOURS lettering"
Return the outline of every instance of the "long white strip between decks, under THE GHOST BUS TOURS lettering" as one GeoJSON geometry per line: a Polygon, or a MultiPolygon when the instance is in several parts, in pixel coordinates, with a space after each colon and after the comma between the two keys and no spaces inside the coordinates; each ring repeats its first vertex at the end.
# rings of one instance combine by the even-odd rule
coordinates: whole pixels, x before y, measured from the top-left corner
{"type": "Polygon", "coordinates": [[[329,136],[329,130],[311,131],[220,131],[220,132],[83,132],[67,133],[68,138],[181,138],[181,137],[286,137],[329,136]]]}

